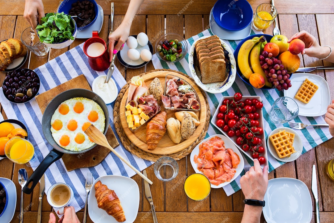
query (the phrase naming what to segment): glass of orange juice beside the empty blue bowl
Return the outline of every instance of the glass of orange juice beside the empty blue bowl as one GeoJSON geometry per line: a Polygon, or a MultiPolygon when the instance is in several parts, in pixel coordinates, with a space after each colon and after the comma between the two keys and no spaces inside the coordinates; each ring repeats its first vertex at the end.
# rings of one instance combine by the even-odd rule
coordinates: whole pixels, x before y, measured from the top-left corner
{"type": "Polygon", "coordinates": [[[275,6],[269,3],[262,3],[256,8],[253,26],[256,30],[263,31],[273,23],[276,16],[277,9],[275,6]]]}

